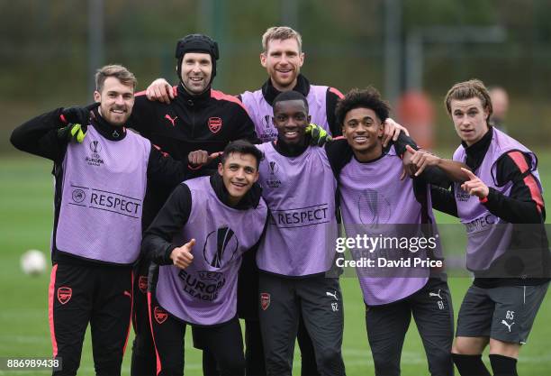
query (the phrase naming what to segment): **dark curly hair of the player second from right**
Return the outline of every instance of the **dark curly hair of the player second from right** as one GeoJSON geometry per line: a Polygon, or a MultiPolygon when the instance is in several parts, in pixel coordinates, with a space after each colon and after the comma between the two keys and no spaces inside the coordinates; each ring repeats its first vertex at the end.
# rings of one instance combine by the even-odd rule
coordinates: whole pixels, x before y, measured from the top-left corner
{"type": "Polygon", "coordinates": [[[369,108],[375,112],[381,122],[384,122],[390,114],[390,105],[381,98],[381,94],[375,87],[364,89],[353,88],[344,98],[339,100],[335,109],[337,124],[344,125],[344,119],[348,112],[355,108],[369,108]]]}

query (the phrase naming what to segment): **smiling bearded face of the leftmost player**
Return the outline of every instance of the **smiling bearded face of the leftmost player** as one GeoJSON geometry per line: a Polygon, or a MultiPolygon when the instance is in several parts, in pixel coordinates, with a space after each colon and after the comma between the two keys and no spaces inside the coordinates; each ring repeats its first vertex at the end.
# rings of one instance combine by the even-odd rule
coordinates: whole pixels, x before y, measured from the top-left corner
{"type": "Polygon", "coordinates": [[[99,113],[114,126],[122,126],[131,115],[134,106],[134,89],[124,85],[119,78],[105,78],[102,91],[94,92],[94,99],[100,102],[99,113]]]}

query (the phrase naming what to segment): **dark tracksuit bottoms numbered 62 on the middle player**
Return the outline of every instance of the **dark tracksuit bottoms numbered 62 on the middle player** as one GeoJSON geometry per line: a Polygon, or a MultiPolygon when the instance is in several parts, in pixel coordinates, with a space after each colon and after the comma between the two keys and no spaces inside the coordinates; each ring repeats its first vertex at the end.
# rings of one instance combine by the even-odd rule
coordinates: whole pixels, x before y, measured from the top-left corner
{"type": "Polygon", "coordinates": [[[268,376],[291,375],[301,314],[312,338],[320,374],[345,375],[341,353],[344,307],[338,279],[325,275],[286,278],[261,272],[259,294],[260,329],[268,376]]]}

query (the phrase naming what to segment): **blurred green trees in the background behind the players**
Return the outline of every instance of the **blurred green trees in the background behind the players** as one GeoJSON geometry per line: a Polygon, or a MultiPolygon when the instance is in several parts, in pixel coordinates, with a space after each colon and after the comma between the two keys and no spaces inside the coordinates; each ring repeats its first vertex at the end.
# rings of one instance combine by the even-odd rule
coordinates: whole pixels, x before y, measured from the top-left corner
{"type": "MultiPolygon", "coordinates": [[[[9,133],[55,106],[86,104],[89,88],[89,3],[97,0],[0,0],[0,152],[9,133]]],[[[374,85],[385,96],[385,11],[398,17],[406,88],[406,41],[428,28],[498,27],[498,42],[423,43],[422,88],[437,109],[438,146],[455,143],[442,99],[458,80],[481,78],[510,92],[509,132],[545,147],[551,135],[551,2],[547,0],[104,0],[104,58],[121,63],[139,88],[157,77],[176,81],[176,40],[205,32],[220,43],[214,87],[230,94],[259,87],[258,61],[267,27],[289,24],[303,34],[311,79],[346,92],[374,85]],[[520,136],[521,135],[521,136],[520,136]]],[[[447,29],[446,29],[447,28],[447,29]]],[[[465,30],[465,29],[461,29],[465,30]]],[[[96,67],[98,68],[98,67],[96,67]]]]}

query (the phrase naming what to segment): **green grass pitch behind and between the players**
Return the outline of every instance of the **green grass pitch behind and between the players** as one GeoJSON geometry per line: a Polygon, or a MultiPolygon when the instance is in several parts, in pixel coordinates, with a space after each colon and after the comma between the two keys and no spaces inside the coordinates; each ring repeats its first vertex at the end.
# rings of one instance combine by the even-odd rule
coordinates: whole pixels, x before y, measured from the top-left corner
{"type": "MultiPolygon", "coordinates": [[[[539,153],[539,171],[544,186],[551,181],[551,153],[539,153]]],[[[0,357],[46,357],[51,355],[48,328],[49,273],[37,277],[23,275],[19,267],[22,252],[36,248],[49,252],[53,207],[51,163],[33,157],[4,157],[0,161],[0,286],[3,307],[0,310],[0,357]]],[[[551,196],[546,192],[546,202],[551,196]]],[[[442,221],[448,218],[439,216],[442,221]]],[[[549,221],[547,221],[549,223],[549,221]]],[[[373,375],[373,361],[366,339],[364,305],[357,280],[341,280],[345,304],[345,335],[343,355],[348,375],[373,375]]],[[[454,308],[457,313],[468,278],[450,278],[454,308]]],[[[523,346],[519,374],[544,376],[551,369],[551,298],[544,301],[528,344],[523,346]]],[[[189,332],[188,332],[189,333],[189,332]]],[[[186,336],[185,374],[201,375],[200,353],[194,350],[186,336]]],[[[131,339],[122,365],[122,374],[130,374],[131,339]]],[[[487,359],[487,358],[486,358],[487,359]]],[[[294,374],[299,373],[300,356],[295,352],[294,374]]],[[[0,375],[40,375],[48,371],[5,371],[0,375]]],[[[79,375],[94,375],[92,348],[86,336],[79,375]]],[[[428,374],[425,353],[414,324],[406,337],[402,353],[402,375],[428,374]]]]}

